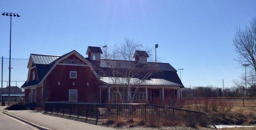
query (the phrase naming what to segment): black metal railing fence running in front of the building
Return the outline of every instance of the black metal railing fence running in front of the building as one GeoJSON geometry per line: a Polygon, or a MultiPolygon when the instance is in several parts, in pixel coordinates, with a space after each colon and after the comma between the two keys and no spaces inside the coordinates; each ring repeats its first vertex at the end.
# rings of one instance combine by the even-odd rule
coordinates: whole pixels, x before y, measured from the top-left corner
{"type": "Polygon", "coordinates": [[[98,104],[82,102],[45,102],[45,112],[68,114],[70,116],[110,120],[146,120],[160,117],[182,122],[207,122],[210,128],[216,128],[205,113],[149,104],[98,104]]]}

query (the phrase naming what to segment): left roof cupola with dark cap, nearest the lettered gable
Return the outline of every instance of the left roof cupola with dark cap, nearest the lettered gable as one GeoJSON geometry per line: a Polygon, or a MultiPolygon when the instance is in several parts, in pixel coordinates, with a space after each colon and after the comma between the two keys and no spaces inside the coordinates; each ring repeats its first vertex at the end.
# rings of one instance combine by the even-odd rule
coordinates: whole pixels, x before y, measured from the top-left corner
{"type": "Polygon", "coordinates": [[[86,54],[91,60],[100,60],[102,50],[100,47],[88,46],[86,54]]]}

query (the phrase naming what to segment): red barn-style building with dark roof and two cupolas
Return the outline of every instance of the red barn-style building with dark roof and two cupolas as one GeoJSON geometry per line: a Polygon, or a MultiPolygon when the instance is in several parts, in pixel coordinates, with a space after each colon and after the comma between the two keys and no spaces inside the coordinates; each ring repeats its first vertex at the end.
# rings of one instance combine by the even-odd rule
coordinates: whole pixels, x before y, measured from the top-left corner
{"type": "MultiPolygon", "coordinates": [[[[134,61],[101,59],[99,47],[89,46],[86,54],[87,57],[83,57],[75,50],[62,56],[30,54],[27,81],[21,87],[25,89],[26,102],[119,102],[119,95],[113,88],[125,83],[113,82],[113,75],[105,72],[125,69],[127,62],[137,66],[152,65],[157,69],[140,85],[136,83],[140,81],[139,76],[131,78],[131,93],[137,88],[134,102],[179,98],[184,88],[172,65],[148,62],[145,51],[135,51],[134,61]]],[[[123,78],[115,76],[117,81],[123,78]]]]}

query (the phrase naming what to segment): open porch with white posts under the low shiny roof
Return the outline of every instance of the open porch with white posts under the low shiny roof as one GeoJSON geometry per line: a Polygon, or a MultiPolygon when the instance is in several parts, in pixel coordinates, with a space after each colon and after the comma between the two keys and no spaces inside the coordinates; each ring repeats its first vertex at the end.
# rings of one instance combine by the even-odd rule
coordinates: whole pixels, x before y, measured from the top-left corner
{"type": "MultiPolygon", "coordinates": [[[[135,92],[136,87],[131,87],[131,96],[134,96],[133,103],[146,102],[163,102],[179,99],[181,97],[181,89],[179,86],[140,86],[135,92]]],[[[119,92],[124,96],[124,101],[128,102],[127,92],[119,92]]],[[[119,93],[116,92],[115,86],[100,87],[100,102],[120,103],[119,93]]]]}

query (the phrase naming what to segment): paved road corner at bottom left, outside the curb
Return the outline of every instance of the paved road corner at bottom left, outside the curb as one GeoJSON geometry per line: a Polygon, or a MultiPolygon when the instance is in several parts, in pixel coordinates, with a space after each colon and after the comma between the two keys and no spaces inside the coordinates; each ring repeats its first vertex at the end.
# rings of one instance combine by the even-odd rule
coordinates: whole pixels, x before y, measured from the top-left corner
{"type": "Polygon", "coordinates": [[[33,130],[28,124],[16,121],[0,112],[0,130],[33,130]]]}

